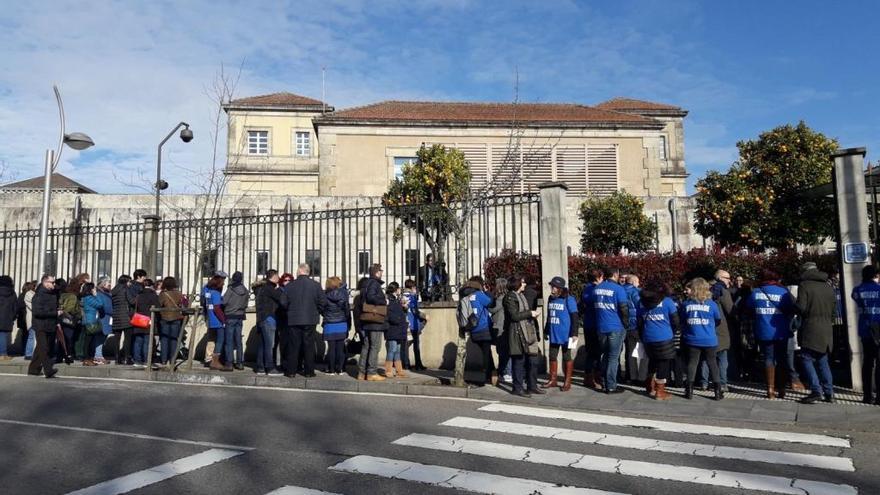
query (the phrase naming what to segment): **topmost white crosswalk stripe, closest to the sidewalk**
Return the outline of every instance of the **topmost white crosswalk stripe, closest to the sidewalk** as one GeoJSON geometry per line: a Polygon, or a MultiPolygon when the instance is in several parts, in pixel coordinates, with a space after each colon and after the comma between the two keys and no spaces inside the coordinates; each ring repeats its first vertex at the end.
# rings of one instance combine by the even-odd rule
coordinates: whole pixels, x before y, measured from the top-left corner
{"type": "Polygon", "coordinates": [[[651,419],[627,418],[610,416],[606,414],[590,414],[577,411],[541,409],[537,407],[517,406],[513,404],[487,404],[481,407],[480,411],[519,414],[536,418],[565,419],[568,421],[577,421],[579,423],[649,428],[652,430],[671,431],[675,433],[687,433],[692,435],[714,435],[722,437],[751,438],[756,440],[769,440],[773,442],[806,443],[827,447],[850,447],[849,440],[847,440],[846,438],[838,438],[828,435],[791,433],[787,431],[751,430],[748,428],[728,428],[724,426],[708,426],[689,423],[673,423],[671,421],[655,421],[651,419]]]}

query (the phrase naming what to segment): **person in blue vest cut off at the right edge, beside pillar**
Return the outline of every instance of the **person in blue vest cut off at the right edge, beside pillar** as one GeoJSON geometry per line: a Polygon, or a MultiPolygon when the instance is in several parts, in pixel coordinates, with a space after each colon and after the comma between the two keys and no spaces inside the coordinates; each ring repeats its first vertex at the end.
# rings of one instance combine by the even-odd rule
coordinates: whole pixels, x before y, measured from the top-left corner
{"type": "Polygon", "coordinates": [[[852,291],[859,312],[859,338],[862,341],[862,402],[880,405],[880,272],[875,266],[862,269],[862,283],[852,291]]]}

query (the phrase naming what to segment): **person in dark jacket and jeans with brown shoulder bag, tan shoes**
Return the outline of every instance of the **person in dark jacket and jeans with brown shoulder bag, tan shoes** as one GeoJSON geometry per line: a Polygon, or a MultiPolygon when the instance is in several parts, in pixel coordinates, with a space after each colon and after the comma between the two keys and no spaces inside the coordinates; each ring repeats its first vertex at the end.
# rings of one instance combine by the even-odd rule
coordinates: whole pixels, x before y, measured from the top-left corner
{"type": "Polygon", "coordinates": [[[370,277],[363,284],[360,294],[358,316],[361,321],[366,340],[358,362],[358,379],[380,382],[385,377],[379,375],[379,349],[382,338],[388,328],[388,301],[382,286],[382,265],[376,263],[370,267],[370,277]]]}

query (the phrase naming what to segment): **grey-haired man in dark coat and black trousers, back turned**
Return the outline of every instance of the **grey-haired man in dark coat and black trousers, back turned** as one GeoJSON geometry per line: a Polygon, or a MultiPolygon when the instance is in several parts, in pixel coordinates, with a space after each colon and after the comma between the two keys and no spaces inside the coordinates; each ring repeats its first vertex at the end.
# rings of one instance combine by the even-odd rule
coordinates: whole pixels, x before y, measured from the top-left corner
{"type": "Polygon", "coordinates": [[[299,265],[296,279],[284,287],[281,305],[287,310],[287,355],[284,376],[292,377],[299,369],[302,355],[303,375],[315,376],[315,327],[327,307],[321,284],[309,278],[308,264],[299,265]]]}

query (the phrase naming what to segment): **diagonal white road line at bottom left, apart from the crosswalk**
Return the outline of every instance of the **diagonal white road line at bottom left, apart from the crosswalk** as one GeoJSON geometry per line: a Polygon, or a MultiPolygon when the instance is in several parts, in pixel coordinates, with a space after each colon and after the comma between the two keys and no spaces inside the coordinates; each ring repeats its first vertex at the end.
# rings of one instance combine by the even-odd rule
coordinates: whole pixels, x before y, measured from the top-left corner
{"type": "Polygon", "coordinates": [[[244,454],[241,450],[206,450],[200,454],[160,464],[143,471],[98,483],[82,490],[70,492],[68,495],[118,495],[128,493],[241,454],[244,454]]]}

